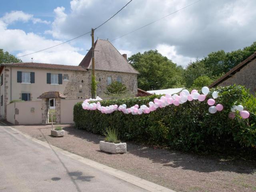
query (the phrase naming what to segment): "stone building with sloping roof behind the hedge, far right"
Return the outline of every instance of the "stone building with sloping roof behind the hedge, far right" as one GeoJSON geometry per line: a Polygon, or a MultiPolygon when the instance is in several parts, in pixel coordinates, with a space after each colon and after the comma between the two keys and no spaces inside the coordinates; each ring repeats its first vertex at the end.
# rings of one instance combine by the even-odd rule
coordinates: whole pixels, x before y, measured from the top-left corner
{"type": "Polygon", "coordinates": [[[250,93],[256,92],[256,52],[249,56],[246,60],[232,68],[221,78],[213,82],[209,87],[243,85],[250,89],[250,93]]]}

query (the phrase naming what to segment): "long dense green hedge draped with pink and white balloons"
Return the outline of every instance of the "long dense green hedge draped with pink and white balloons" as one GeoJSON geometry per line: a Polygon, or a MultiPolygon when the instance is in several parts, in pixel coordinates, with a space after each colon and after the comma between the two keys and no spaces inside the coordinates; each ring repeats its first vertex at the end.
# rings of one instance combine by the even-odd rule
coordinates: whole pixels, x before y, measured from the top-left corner
{"type": "MultiPolygon", "coordinates": [[[[112,104],[148,104],[160,96],[147,96],[119,100],[103,100],[102,106],[112,104]]],[[[74,106],[76,128],[96,134],[103,134],[106,128],[118,130],[120,139],[139,141],[176,149],[207,151],[228,148],[255,148],[256,146],[256,99],[242,86],[228,86],[211,89],[204,102],[192,101],[180,106],[158,108],[150,114],[132,115],[115,111],[102,114],[100,111],[82,109],[82,102],[74,106]],[[212,92],[219,92],[216,104],[223,104],[224,110],[210,114],[207,100],[212,92]],[[243,120],[236,115],[228,118],[230,108],[242,104],[251,112],[250,118],[243,120]]]]}

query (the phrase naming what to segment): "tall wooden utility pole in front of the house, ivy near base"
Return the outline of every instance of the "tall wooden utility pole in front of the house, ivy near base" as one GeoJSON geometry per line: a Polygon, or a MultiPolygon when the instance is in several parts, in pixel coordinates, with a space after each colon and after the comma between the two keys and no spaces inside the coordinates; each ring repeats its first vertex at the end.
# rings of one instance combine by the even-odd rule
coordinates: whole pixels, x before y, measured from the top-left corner
{"type": "Polygon", "coordinates": [[[92,82],[91,82],[91,95],[92,98],[96,98],[96,88],[97,88],[97,83],[96,83],[96,78],[95,78],[95,63],[94,63],[94,29],[92,28],[91,31],[91,36],[92,36],[92,82]]]}

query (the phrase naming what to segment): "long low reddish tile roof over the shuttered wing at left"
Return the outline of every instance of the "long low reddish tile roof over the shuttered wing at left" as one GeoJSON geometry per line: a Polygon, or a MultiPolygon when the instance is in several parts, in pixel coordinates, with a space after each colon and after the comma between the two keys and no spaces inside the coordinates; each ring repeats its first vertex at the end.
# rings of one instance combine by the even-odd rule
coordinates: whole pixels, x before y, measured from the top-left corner
{"type": "Polygon", "coordinates": [[[47,63],[3,63],[1,66],[15,66],[15,67],[33,67],[33,68],[44,68],[44,69],[58,69],[58,70],[74,70],[74,71],[86,71],[82,66],[72,65],[58,65],[58,64],[47,64],[47,63]]]}

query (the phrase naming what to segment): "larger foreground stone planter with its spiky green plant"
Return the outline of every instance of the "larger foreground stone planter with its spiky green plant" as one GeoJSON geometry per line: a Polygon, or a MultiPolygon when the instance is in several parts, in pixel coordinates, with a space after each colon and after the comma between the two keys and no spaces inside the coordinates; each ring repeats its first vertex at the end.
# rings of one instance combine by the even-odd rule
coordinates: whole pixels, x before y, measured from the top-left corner
{"type": "Polygon", "coordinates": [[[121,143],[118,140],[118,133],[113,129],[106,129],[105,140],[100,141],[100,150],[109,152],[109,153],[126,153],[126,143],[121,143]]]}

